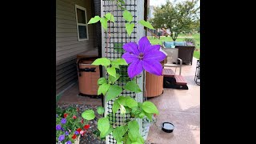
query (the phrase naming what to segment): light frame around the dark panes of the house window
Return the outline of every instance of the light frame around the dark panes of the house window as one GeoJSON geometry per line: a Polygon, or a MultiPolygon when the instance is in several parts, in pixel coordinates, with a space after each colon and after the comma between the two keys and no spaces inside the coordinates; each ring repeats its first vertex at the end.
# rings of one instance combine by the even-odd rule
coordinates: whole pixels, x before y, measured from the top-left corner
{"type": "Polygon", "coordinates": [[[86,8],[82,7],[82,6],[78,6],[78,5],[74,5],[74,8],[75,8],[75,18],[76,18],[76,22],[77,22],[77,31],[78,31],[78,41],[86,41],[86,40],[89,40],[89,34],[88,34],[88,24],[87,24],[87,14],[86,14],[86,8]],[[84,23],[78,23],[78,12],[77,12],[77,9],[80,9],[80,10],[84,10],[85,11],[85,17],[86,17],[86,24],[84,23]],[[86,26],[86,35],[87,35],[87,38],[79,38],[79,29],[78,29],[78,26],[86,26]]]}

